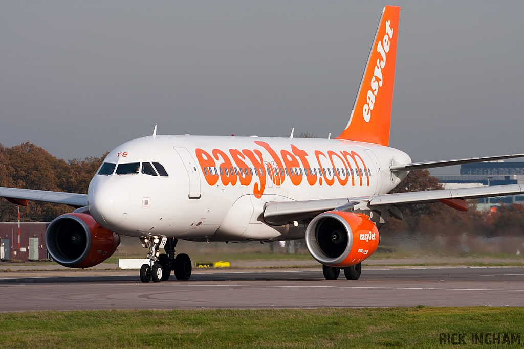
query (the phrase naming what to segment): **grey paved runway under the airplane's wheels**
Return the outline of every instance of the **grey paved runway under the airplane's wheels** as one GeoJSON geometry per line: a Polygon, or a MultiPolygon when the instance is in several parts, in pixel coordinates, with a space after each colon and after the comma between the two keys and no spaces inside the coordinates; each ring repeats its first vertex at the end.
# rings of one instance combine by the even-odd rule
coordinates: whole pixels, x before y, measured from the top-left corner
{"type": "Polygon", "coordinates": [[[171,278],[143,284],[138,271],[2,273],[0,311],[524,306],[523,267],[367,268],[359,280],[325,280],[316,268],[171,278]]]}

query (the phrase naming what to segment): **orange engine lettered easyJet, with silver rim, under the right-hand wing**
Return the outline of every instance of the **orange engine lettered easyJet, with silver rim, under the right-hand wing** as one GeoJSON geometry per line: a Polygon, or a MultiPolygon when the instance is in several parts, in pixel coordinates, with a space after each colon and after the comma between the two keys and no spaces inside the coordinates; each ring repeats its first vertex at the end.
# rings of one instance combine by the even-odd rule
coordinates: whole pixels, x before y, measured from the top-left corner
{"type": "Polygon", "coordinates": [[[379,240],[375,223],[362,213],[324,212],[313,218],[305,231],[313,258],[341,268],[364,261],[377,250],[379,240]]]}

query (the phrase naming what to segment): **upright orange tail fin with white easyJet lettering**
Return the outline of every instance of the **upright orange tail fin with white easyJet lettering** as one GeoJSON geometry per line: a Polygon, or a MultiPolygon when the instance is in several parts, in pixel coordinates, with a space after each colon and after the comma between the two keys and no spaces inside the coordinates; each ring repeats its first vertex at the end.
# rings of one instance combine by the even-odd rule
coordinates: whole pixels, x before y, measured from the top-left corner
{"type": "Polygon", "coordinates": [[[337,139],[389,144],[400,7],[382,11],[346,129],[337,139]]]}

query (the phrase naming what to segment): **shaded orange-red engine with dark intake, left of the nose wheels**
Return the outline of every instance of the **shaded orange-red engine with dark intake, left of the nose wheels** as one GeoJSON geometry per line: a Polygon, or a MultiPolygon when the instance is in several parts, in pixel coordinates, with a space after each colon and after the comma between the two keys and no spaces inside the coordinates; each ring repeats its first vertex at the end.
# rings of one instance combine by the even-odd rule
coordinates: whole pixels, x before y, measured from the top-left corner
{"type": "Polygon", "coordinates": [[[46,230],[47,251],[58,264],[89,268],[109,258],[120,237],[97,223],[89,213],[65,213],[46,230]]]}

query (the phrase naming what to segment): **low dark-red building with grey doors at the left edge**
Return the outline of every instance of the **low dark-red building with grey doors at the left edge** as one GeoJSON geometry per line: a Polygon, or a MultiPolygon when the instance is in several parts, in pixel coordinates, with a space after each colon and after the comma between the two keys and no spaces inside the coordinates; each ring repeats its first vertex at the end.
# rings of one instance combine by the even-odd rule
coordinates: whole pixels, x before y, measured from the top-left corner
{"type": "Polygon", "coordinates": [[[49,222],[20,222],[20,249],[18,249],[18,222],[0,222],[0,257],[4,260],[41,260],[46,257],[46,229],[49,222]]]}

